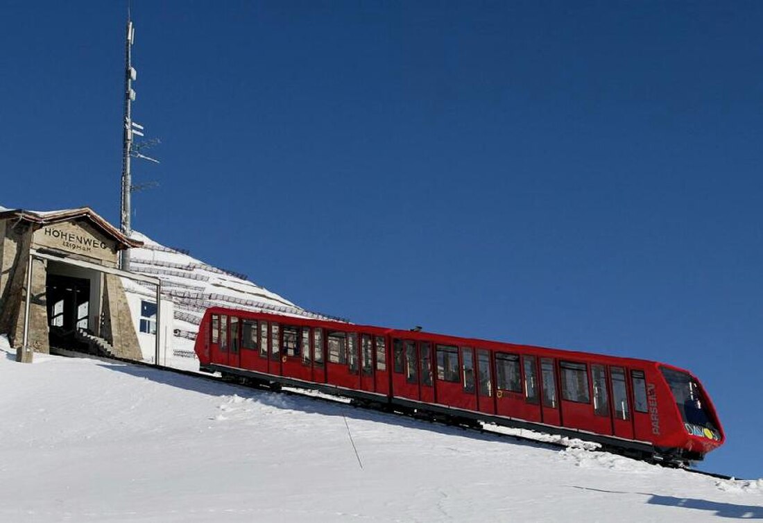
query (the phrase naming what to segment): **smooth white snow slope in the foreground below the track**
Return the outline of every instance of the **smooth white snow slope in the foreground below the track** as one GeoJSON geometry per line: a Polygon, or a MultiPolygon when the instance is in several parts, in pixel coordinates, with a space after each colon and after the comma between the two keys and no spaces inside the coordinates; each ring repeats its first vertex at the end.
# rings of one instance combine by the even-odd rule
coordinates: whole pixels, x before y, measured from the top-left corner
{"type": "Polygon", "coordinates": [[[43,354],[21,364],[3,337],[0,397],[0,521],[763,518],[763,479],[146,366],[43,354]]]}

